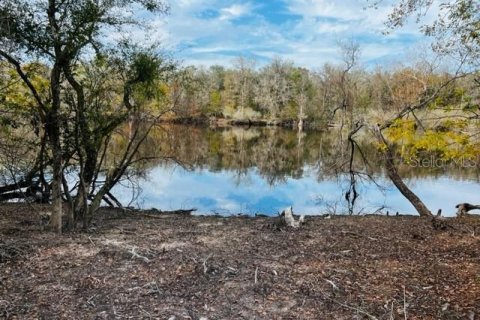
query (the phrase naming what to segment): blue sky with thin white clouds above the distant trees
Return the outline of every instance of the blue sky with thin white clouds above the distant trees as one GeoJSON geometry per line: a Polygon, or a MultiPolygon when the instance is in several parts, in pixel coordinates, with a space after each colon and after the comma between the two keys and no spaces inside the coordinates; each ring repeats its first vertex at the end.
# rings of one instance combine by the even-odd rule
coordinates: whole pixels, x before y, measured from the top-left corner
{"type": "MultiPolygon", "coordinates": [[[[177,0],[171,13],[152,21],[152,36],[184,64],[231,65],[234,58],[255,58],[258,65],[274,57],[321,67],[340,61],[338,43],[354,40],[366,66],[411,61],[425,52],[426,38],[414,21],[385,36],[382,31],[391,1],[365,9],[366,0],[177,0]]],[[[438,14],[427,12],[424,22],[438,14]]]]}

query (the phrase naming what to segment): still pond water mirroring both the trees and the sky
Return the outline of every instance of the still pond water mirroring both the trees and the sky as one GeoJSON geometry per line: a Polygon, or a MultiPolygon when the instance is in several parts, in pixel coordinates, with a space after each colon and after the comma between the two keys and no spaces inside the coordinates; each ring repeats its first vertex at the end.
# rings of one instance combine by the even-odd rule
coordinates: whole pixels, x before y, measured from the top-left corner
{"type": "MultiPolygon", "coordinates": [[[[144,209],[197,209],[199,214],[274,215],[287,206],[294,212],[348,212],[348,175],[338,170],[348,157],[333,132],[281,128],[210,129],[158,127],[141,152],[155,160],[130,184],[114,189],[123,203],[144,209]],[[181,165],[179,165],[181,163],[181,165]],[[140,191],[140,192],[138,192],[140,191]]],[[[362,146],[376,183],[360,179],[354,212],[415,214],[414,208],[385,178],[375,146],[362,146]]],[[[361,159],[356,159],[359,168],[361,159]]],[[[480,179],[471,168],[401,167],[407,184],[426,205],[452,216],[460,202],[478,203],[480,179]]]]}

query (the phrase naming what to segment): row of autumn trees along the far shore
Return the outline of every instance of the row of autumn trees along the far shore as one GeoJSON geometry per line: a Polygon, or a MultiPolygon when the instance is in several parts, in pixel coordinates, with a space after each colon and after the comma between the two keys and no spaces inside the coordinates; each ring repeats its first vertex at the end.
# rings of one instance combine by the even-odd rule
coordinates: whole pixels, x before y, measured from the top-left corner
{"type": "MultiPolygon", "coordinates": [[[[339,54],[350,54],[343,50],[339,54]]],[[[256,68],[254,60],[243,57],[233,67],[185,67],[177,74],[178,84],[171,87],[179,101],[173,116],[303,120],[311,128],[326,129],[340,123],[340,110],[348,109],[355,119],[365,113],[372,117],[393,113],[418,99],[426,87],[434,90],[453,76],[420,59],[410,66],[368,70],[358,63],[359,47],[353,50],[354,60],[318,70],[281,58],[256,68]]],[[[430,107],[465,101],[473,105],[477,95],[473,79],[470,75],[452,82],[430,107]]]]}

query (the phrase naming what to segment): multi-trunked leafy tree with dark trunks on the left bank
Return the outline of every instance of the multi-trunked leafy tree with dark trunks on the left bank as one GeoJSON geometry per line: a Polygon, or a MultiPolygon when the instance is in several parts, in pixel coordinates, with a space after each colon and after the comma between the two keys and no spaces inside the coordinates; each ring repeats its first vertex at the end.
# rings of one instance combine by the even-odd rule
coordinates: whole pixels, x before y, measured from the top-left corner
{"type": "MultiPolygon", "coordinates": [[[[78,156],[80,163],[80,188],[74,208],[68,214],[68,223],[72,227],[75,213],[87,214],[87,185],[97,164],[98,150],[106,137],[125,119],[126,115],[135,111],[132,103],[134,91],[138,86],[150,84],[159,63],[156,58],[145,53],[132,53],[128,67],[124,68],[123,99],[119,107],[119,115],[112,114],[110,121],[97,127],[89,120],[92,108],[87,100],[85,81],[79,75],[79,61],[96,52],[105,54],[107,48],[102,44],[102,31],[106,28],[122,28],[127,25],[140,25],[140,21],[124,15],[124,9],[139,5],[152,13],[164,13],[168,9],[160,0],[4,0],[0,3],[0,58],[9,63],[28,88],[35,101],[35,112],[39,119],[39,127],[45,131],[52,158],[52,197],[54,212],[51,226],[62,230],[62,185],[66,189],[64,169],[65,163],[72,157],[68,154],[64,143],[75,142],[72,152],[78,156]],[[45,61],[49,66],[49,94],[42,96],[33,83],[25,62],[32,59],[45,61]],[[64,108],[62,99],[69,100],[69,113],[64,108]],[[74,121],[74,132],[67,132],[65,121],[74,121]],[[72,136],[73,140],[62,139],[72,136]]],[[[113,48],[110,48],[113,49],[113,48]]],[[[115,52],[115,50],[110,50],[115,52]]],[[[121,57],[121,55],[120,55],[121,57]]],[[[129,151],[135,151],[134,143],[129,151]]],[[[133,158],[127,152],[125,161],[133,158]]],[[[109,171],[105,186],[114,184],[126,169],[126,162],[118,164],[109,171]]],[[[100,193],[102,190],[100,190],[100,193]]],[[[98,193],[97,193],[98,194],[98,193]]],[[[93,200],[92,209],[99,203],[93,200]]],[[[85,223],[88,219],[84,220],[85,223]]]]}

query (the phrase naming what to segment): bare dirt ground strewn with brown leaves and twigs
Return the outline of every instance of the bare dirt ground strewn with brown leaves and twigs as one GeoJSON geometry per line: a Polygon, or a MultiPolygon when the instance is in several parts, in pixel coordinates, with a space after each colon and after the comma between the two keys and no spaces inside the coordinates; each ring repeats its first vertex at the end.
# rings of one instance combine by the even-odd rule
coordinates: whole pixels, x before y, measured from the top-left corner
{"type": "Polygon", "coordinates": [[[0,206],[0,318],[480,319],[480,219],[198,217],[102,209],[44,231],[0,206]]]}

